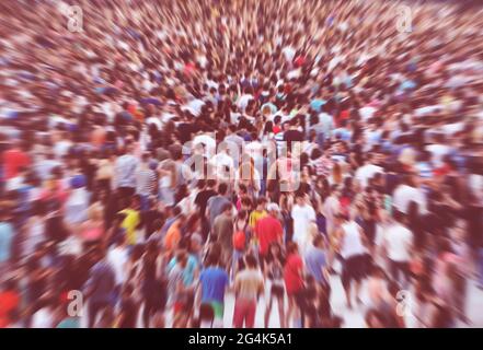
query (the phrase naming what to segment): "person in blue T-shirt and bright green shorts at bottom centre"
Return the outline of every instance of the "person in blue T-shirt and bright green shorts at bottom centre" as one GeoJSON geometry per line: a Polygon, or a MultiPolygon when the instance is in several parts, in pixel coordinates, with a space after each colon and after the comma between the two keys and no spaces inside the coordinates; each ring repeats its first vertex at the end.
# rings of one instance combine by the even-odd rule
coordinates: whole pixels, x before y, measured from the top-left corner
{"type": "Polygon", "coordinates": [[[208,304],[212,307],[215,323],[222,322],[225,311],[225,292],[229,284],[227,271],[221,267],[219,256],[211,253],[207,267],[199,275],[198,306],[208,304]]]}

